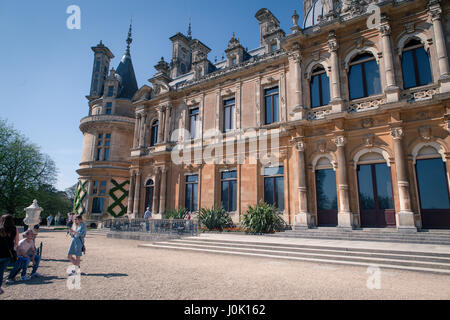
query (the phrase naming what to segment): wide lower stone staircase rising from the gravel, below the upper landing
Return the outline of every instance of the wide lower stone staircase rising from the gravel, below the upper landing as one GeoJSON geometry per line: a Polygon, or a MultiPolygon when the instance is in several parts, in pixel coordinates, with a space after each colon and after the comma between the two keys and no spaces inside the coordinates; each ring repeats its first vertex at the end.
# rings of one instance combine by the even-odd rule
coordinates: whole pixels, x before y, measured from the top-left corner
{"type": "MultiPolygon", "coordinates": [[[[426,250],[390,250],[364,247],[301,245],[272,242],[185,238],[139,245],[140,248],[178,250],[314,263],[409,270],[450,275],[450,253],[426,250]]],[[[370,246],[368,246],[370,247],[370,246]]]]}

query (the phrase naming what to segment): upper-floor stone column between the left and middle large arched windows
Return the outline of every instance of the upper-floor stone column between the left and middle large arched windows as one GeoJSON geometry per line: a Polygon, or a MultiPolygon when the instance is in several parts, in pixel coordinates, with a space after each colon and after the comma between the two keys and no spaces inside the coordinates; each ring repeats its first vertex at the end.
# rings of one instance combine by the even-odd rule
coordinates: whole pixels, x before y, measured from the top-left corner
{"type": "Polygon", "coordinates": [[[344,111],[344,103],[341,97],[341,79],[339,74],[339,57],[337,50],[339,44],[334,31],[331,31],[328,35],[328,50],[330,52],[331,61],[331,102],[333,106],[333,112],[344,111]]]}

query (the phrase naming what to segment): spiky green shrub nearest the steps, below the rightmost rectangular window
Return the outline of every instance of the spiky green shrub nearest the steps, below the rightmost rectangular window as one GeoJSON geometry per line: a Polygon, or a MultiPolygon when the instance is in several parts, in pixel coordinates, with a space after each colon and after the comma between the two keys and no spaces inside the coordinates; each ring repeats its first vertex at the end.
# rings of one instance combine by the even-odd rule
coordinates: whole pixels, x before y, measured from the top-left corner
{"type": "Polygon", "coordinates": [[[241,227],[249,233],[274,233],[283,231],[286,226],[281,215],[274,206],[258,203],[249,206],[247,213],[241,217],[241,227]]]}

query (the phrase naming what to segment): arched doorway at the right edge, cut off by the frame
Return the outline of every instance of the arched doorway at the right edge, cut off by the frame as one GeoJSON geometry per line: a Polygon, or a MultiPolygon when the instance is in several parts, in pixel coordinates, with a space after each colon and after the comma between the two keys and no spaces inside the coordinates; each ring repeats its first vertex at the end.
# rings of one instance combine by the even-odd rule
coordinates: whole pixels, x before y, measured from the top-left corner
{"type": "Polygon", "coordinates": [[[422,228],[450,229],[447,169],[442,156],[436,148],[423,146],[415,162],[422,228]]]}

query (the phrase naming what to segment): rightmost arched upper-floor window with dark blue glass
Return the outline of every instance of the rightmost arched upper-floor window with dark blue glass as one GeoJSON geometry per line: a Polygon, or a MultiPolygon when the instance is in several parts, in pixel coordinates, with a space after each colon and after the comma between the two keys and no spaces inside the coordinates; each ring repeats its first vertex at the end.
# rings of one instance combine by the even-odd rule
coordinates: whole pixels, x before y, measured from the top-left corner
{"type": "Polygon", "coordinates": [[[430,57],[423,44],[417,39],[409,41],[403,49],[402,72],[405,89],[424,86],[433,82],[430,57]]]}

